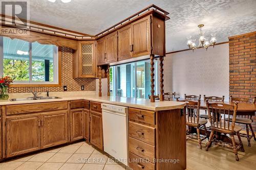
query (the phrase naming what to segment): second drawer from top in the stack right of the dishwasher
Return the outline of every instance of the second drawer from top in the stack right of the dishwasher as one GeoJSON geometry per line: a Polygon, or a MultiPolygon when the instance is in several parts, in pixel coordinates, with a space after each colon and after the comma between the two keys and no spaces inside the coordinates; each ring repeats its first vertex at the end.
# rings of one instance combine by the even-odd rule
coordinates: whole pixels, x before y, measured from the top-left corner
{"type": "Polygon", "coordinates": [[[129,136],[155,145],[155,128],[129,122],[129,136]]]}

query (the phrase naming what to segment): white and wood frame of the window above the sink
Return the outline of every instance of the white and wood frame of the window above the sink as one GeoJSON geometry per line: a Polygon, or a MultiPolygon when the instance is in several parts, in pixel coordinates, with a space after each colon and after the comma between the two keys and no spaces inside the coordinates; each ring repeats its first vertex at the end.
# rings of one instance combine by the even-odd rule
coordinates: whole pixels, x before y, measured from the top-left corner
{"type": "MultiPolygon", "coordinates": [[[[9,37],[10,38],[10,37],[9,37]]],[[[3,36],[0,36],[0,77],[4,74],[4,48],[3,36]]],[[[19,39],[19,38],[16,38],[19,39]]],[[[23,40],[23,39],[20,39],[23,40]]],[[[26,40],[24,40],[26,41],[26,40]]],[[[53,82],[32,81],[32,43],[29,42],[29,81],[14,81],[10,87],[58,87],[61,86],[61,47],[54,48],[53,57],[53,82]],[[57,57],[55,57],[57,56],[57,57]]]]}

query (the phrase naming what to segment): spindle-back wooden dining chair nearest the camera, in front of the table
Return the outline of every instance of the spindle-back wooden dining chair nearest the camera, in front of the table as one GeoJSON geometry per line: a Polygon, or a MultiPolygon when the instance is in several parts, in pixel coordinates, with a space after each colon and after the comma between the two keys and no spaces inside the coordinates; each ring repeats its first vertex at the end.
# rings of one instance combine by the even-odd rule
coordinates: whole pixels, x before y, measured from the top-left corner
{"type": "Polygon", "coordinates": [[[238,103],[234,103],[234,105],[229,105],[224,103],[209,103],[208,100],[206,100],[206,106],[209,115],[209,129],[211,130],[211,133],[205,150],[208,151],[211,143],[214,142],[216,144],[222,145],[223,147],[225,146],[228,148],[232,148],[234,155],[236,156],[236,160],[239,161],[238,150],[241,149],[241,151],[244,152],[244,147],[240,136],[240,131],[242,130],[242,127],[235,124],[238,103]],[[230,119],[231,117],[232,122],[226,120],[226,118],[230,119]],[[222,140],[214,138],[214,134],[216,133],[229,134],[232,143],[223,142],[222,140]],[[234,141],[234,135],[238,136],[238,146],[234,141]]]}

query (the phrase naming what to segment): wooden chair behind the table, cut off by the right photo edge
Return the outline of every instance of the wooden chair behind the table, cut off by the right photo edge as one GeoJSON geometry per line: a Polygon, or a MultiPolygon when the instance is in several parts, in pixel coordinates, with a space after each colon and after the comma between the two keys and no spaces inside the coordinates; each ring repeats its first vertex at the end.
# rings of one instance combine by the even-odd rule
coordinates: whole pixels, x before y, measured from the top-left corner
{"type": "MultiPolygon", "coordinates": [[[[253,98],[253,99],[249,99],[249,98],[233,98],[232,95],[231,95],[231,96],[230,96],[230,101],[231,101],[231,102],[238,102],[238,103],[255,104],[255,102],[256,102],[256,97],[253,98]]],[[[230,118],[230,119],[226,118],[226,119],[229,120],[229,121],[232,121],[231,118],[230,118]]],[[[255,138],[255,133],[253,132],[253,129],[252,129],[252,126],[251,126],[251,123],[252,123],[252,122],[253,122],[252,115],[250,115],[250,116],[249,116],[249,115],[238,115],[237,118],[236,118],[236,123],[245,125],[246,134],[245,134],[245,133],[241,133],[241,136],[247,138],[248,147],[251,146],[250,140],[251,140],[252,137],[254,138],[254,140],[256,140],[256,138],[255,138]],[[250,135],[250,133],[249,133],[249,128],[248,128],[248,126],[250,127],[251,135],[250,135]]]]}

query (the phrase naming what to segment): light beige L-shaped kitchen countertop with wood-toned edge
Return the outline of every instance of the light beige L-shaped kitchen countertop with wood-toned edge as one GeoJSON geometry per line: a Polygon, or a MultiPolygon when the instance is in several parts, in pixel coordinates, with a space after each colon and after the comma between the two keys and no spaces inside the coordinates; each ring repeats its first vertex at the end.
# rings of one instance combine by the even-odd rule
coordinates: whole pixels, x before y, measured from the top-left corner
{"type": "MultiPolygon", "coordinates": [[[[27,95],[32,96],[30,93],[27,95]]],[[[41,95],[38,95],[41,96],[41,95]]],[[[45,96],[45,95],[44,95],[45,96]]],[[[155,103],[151,103],[148,99],[136,99],[136,98],[123,98],[118,96],[102,96],[99,97],[95,93],[88,94],[84,92],[59,92],[54,93],[54,95],[61,99],[51,99],[51,100],[35,100],[35,101],[16,101],[11,102],[9,100],[0,100],[0,105],[15,105],[15,104],[30,104],[30,103],[45,103],[45,102],[58,102],[58,101],[72,101],[72,100],[88,100],[93,102],[100,103],[108,103],[113,105],[127,106],[139,109],[147,109],[147,110],[172,110],[172,109],[182,109],[185,106],[184,102],[175,102],[175,101],[157,101],[155,103]]],[[[12,98],[27,98],[28,96],[14,96],[10,95],[9,99],[12,98]]]]}

